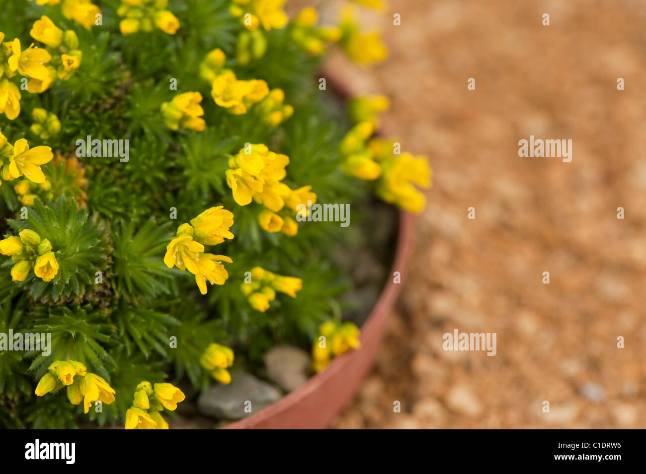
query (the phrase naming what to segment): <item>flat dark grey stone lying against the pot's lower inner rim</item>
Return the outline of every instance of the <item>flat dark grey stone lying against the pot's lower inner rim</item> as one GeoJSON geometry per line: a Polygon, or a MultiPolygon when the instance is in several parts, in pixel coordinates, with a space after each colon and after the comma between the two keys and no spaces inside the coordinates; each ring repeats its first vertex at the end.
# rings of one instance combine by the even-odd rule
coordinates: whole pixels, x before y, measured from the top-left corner
{"type": "Polygon", "coordinates": [[[280,390],[245,372],[231,373],[231,383],[217,384],[198,398],[198,410],[203,415],[238,420],[271,405],[282,397],[280,390]],[[251,402],[251,411],[245,406],[251,402]]]}

